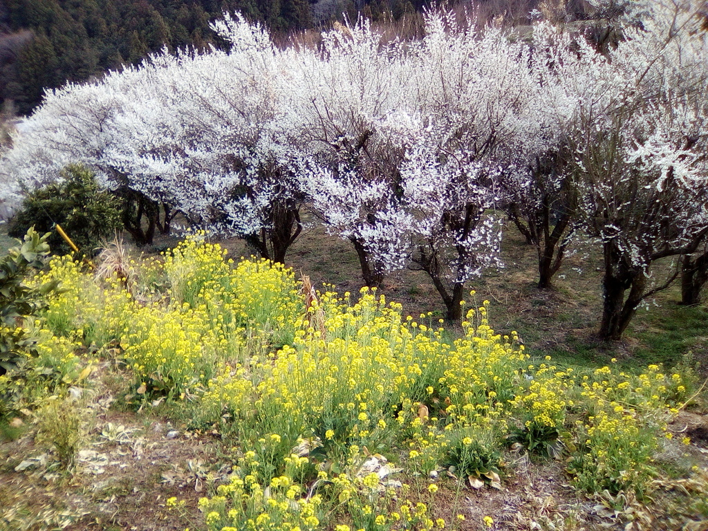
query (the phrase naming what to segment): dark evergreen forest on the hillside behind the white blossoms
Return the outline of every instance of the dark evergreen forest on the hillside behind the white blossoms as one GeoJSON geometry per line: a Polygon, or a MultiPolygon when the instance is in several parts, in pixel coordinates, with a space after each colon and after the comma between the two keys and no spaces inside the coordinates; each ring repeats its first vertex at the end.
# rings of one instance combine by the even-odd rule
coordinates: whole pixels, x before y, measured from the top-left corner
{"type": "Polygon", "coordinates": [[[279,35],[323,27],[343,13],[400,19],[426,0],[4,0],[0,98],[28,114],[47,88],[135,64],[149,52],[223,46],[210,21],[239,11],[279,35]]]}

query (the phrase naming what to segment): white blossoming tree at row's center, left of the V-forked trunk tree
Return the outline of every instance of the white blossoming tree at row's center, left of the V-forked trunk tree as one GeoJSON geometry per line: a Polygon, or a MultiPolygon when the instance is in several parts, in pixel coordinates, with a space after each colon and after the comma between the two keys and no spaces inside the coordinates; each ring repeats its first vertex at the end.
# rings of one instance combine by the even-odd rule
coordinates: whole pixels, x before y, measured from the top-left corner
{"type": "Polygon", "coordinates": [[[329,232],[351,241],[368,286],[408,255],[399,181],[414,130],[410,68],[399,40],[384,41],[366,22],[340,26],[320,50],[301,50],[292,90],[302,189],[329,232]]]}

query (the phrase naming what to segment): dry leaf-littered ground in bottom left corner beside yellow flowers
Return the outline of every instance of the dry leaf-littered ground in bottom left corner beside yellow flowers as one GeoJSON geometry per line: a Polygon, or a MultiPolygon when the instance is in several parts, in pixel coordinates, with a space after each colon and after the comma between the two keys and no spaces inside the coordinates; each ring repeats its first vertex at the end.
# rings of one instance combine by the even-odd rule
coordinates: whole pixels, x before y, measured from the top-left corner
{"type": "Polygon", "coordinates": [[[164,406],[122,411],[115,396],[127,392],[127,381],[109,362],[96,366],[87,384],[93,424],[69,471],[57,472],[55,455],[35,443],[31,416],[19,438],[0,439],[1,531],[183,531],[203,523],[197,502],[207,492],[207,476],[219,479],[223,472],[220,442],[185,433],[164,406]],[[125,436],[106,438],[109,426],[122,426],[125,436]],[[171,430],[179,431],[177,438],[166,437],[171,430]],[[36,467],[16,470],[35,457],[36,467]],[[186,501],[188,520],[166,507],[171,496],[186,501]]]}

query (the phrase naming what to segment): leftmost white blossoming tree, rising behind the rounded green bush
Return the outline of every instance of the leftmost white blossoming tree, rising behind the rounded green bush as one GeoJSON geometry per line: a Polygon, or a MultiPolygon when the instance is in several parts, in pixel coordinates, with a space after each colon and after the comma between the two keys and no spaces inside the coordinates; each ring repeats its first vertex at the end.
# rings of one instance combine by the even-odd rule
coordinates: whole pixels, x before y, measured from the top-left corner
{"type": "MultiPolygon", "coordinates": [[[[45,103],[18,125],[13,149],[4,156],[0,171],[31,189],[57,180],[69,164],[82,162],[96,171],[105,187],[127,195],[125,227],[139,243],[150,241],[159,222],[159,205],[132,190],[106,158],[111,147],[125,138],[116,127],[116,118],[128,102],[154,90],[148,71],[129,68],[108,74],[103,81],[69,84],[47,93],[45,103]]],[[[166,228],[170,210],[164,206],[166,228]]]]}

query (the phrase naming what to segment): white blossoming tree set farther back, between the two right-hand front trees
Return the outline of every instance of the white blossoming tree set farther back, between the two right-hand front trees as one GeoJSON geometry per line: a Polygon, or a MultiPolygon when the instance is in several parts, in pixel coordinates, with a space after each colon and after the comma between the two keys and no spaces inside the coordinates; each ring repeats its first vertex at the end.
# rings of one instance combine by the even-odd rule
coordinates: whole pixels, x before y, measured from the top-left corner
{"type": "Polygon", "coordinates": [[[610,62],[583,35],[541,23],[532,47],[537,83],[530,134],[498,181],[505,212],[537,251],[538,287],[548,288],[581,224],[565,126],[603,108],[615,78],[610,62]]]}

